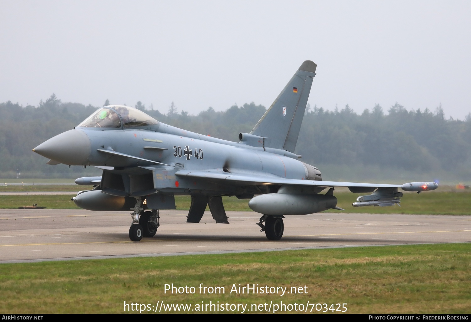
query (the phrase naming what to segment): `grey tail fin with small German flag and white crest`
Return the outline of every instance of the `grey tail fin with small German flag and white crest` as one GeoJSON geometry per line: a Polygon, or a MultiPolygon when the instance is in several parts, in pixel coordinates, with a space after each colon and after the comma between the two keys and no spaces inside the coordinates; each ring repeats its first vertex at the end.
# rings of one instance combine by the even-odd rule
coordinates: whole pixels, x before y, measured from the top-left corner
{"type": "Polygon", "coordinates": [[[306,60],[250,134],[270,137],[266,145],[294,152],[317,64],[306,60]]]}

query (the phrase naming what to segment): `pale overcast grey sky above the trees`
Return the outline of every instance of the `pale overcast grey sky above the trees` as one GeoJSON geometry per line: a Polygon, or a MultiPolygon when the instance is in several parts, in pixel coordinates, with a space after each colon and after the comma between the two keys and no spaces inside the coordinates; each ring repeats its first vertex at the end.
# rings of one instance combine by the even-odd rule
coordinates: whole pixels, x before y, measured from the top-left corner
{"type": "Polygon", "coordinates": [[[0,0],[0,15],[0,102],[269,107],[312,60],[311,106],[471,112],[471,1],[0,0]]]}

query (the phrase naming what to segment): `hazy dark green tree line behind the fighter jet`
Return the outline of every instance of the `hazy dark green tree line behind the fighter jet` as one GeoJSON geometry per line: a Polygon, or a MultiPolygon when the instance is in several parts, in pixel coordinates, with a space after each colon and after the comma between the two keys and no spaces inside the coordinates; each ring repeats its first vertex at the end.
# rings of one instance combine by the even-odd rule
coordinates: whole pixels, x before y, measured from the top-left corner
{"type": "MultiPolygon", "coordinates": [[[[109,101],[106,100],[105,105],[109,101]]],[[[65,165],[50,166],[31,150],[73,129],[99,106],[63,103],[54,94],[37,106],[0,103],[0,176],[80,177],[100,172],[65,165]]],[[[253,102],[217,112],[212,107],[190,115],[173,102],[166,111],[138,102],[134,107],[158,121],[189,131],[238,141],[249,133],[266,108],[253,102]]],[[[349,105],[333,111],[306,109],[295,153],[313,165],[345,165],[426,171],[471,173],[471,113],[465,120],[446,119],[441,106],[407,110],[396,103],[386,111],[380,105],[357,114],[349,105]]]]}

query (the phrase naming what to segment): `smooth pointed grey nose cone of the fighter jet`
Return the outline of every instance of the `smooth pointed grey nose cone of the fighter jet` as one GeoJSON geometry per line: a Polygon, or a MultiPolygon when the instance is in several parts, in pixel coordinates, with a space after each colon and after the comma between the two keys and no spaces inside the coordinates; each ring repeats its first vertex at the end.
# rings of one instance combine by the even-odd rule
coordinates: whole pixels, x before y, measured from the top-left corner
{"type": "Polygon", "coordinates": [[[90,148],[87,134],[80,129],[73,129],[50,138],[32,151],[60,163],[86,165],[90,148]]]}

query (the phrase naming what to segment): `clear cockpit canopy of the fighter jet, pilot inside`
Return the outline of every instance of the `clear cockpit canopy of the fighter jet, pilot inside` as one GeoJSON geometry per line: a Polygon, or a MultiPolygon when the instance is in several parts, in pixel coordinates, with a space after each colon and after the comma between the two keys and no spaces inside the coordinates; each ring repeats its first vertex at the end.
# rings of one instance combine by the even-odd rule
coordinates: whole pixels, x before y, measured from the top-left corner
{"type": "Polygon", "coordinates": [[[98,109],[78,128],[135,128],[157,124],[157,120],[146,113],[129,106],[110,105],[98,109]]]}

